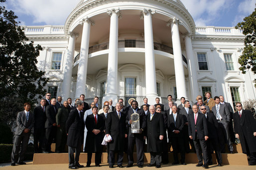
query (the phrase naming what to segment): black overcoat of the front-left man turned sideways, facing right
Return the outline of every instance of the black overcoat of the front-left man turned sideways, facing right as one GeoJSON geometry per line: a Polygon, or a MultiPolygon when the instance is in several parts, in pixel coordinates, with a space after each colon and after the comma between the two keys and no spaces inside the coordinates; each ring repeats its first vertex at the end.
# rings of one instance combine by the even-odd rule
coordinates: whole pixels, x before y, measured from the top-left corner
{"type": "Polygon", "coordinates": [[[84,138],[84,113],[80,111],[80,114],[81,116],[78,110],[74,109],[69,113],[66,121],[67,145],[75,148],[81,147],[84,138]]]}

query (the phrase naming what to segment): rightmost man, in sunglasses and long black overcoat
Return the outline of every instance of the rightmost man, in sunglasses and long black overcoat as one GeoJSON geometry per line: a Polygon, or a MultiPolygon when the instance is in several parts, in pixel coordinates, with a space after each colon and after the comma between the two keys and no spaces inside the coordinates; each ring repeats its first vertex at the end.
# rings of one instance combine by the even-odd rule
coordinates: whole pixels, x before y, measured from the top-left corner
{"type": "Polygon", "coordinates": [[[236,103],[237,112],[234,113],[234,130],[240,139],[244,154],[250,157],[249,165],[256,165],[256,121],[253,113],[242,109],[240,102],[236,103]]]}

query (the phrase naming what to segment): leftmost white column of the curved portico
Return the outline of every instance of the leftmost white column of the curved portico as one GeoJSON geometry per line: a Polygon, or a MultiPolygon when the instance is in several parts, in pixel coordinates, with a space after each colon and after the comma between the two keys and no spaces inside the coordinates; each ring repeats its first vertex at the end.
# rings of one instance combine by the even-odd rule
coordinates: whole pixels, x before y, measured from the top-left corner
{"type": "Polygon", "coordinates": [[[70,32],[69,41],[68,41],[68,53],[67,53],[64,78],[62,83],[63,100],[67,100],[70,97],[75,42],[76,42],[76,34],[74,32],[70,32]]]}

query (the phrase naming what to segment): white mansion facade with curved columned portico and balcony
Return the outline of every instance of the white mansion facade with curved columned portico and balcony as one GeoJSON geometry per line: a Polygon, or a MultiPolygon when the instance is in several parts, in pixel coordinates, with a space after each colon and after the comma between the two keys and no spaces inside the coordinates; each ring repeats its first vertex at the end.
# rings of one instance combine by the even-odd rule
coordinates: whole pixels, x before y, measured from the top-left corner
{"type": "Polygon", "coordinates": [[[48,47],[38,57],[47,62],[40,67],[63,80],[47,90],[64,100],[85,94],[114,105],[129,97],[147,97],[149,104],[160,97],[164,104],[169,94],[195,101],[206,90],[230,103],[255,98],[255,75],[238,69],[241,32],[195,27],[180,0],[81,0],[64,28],[48,27],[27,26],[25,34],[48,47]]]}

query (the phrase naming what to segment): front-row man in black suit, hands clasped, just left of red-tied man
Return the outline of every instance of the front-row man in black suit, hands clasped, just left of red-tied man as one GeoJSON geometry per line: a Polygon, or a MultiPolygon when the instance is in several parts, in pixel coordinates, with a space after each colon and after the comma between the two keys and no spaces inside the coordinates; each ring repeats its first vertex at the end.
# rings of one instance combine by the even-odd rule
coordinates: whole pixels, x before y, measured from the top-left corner
{"type": "Polygon", "coordinates": [[[185,148],[184,148],[184,136],[182,134],[182,129],[184,126],[184,118],[181,114],[177,113],[177,107],[172,107],[172,113],[168,114],[168,129],[171,136],[171,143],[173,148],[173,158],[174,162],[172,165],[179,164],[178,152],[180,151],[181,164],[185,164],[185,148]]]}

